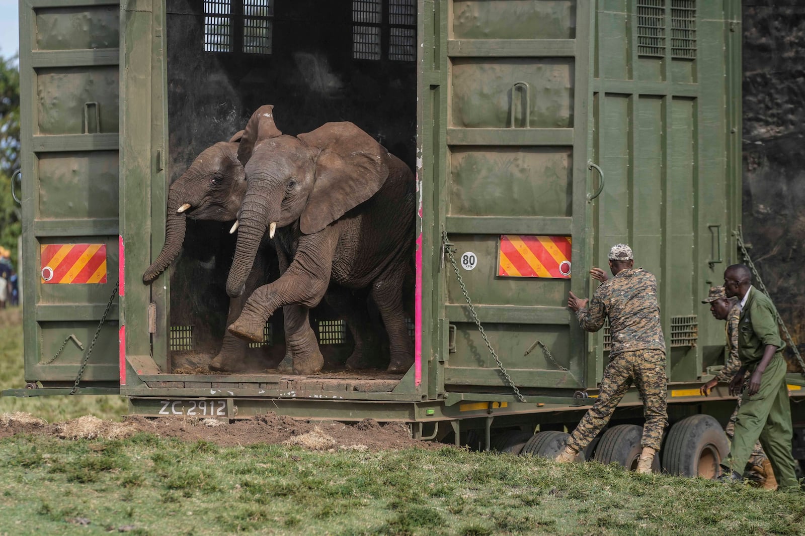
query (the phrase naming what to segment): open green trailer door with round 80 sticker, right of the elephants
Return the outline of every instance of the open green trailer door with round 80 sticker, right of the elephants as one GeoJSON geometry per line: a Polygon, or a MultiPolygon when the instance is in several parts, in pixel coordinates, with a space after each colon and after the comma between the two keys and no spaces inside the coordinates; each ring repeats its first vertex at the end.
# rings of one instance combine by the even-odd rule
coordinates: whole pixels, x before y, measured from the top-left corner
{"type": "Polygon", "coordinates": [[[591,2],[445,3],[437,210],[463,279],[447,260],[445,390],[511,394],[485,339],[520,391],[584,390],[588,339],[567,301],[570,290],[589,294],[585,230],[598,185],[588,166],[591,2]]]}

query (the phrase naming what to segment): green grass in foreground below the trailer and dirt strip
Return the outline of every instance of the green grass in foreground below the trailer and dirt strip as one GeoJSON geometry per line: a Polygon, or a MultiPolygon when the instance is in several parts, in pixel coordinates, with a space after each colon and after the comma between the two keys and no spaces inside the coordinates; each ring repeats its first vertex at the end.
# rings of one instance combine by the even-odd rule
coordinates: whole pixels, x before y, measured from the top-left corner
{"type": "Polygon", "coordinates": [[[455,448],[16,436],[0,481],[0,534],[805,534],[801,495],[455,448]]]}

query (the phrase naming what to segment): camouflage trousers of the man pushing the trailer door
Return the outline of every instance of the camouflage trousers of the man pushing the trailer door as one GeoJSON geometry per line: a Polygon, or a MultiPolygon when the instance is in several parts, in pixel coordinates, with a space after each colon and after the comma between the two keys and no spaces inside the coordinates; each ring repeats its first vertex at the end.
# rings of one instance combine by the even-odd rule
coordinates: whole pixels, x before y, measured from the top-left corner
{"type": "Polygon", "coordinates": [[[659,450],[668,423],[667,380],[663,350],[634,350],[609,360],[596,403],[584,414],[568,439],[568,446],[583,450],[609,422],[609,417],[634,381],[643,400],[646,424],[640,444],[659,450]]]}

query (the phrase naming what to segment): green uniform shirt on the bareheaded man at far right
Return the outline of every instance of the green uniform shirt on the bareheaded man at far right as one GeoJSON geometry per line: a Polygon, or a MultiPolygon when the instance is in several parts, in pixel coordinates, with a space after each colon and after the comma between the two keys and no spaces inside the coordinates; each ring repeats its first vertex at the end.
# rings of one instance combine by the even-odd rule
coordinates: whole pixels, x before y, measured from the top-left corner
{"type": "Polygon", "coordinates": [[[738,357],[741,363],[753,370],[763,357],[767,345],[785,348],[780,338],[774,305],[766,294],[751,287],[738,323],[738,357]]]}

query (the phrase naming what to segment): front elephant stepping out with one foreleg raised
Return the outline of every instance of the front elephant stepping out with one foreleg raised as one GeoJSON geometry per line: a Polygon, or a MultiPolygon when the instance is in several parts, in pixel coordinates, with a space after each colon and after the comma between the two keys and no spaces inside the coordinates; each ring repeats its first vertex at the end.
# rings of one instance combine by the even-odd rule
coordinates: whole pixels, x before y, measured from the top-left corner
{"type": "Polygon", "coordinates": [[[282,275],[254,290],[229,332],[256,341],[262,325],[283,307],[293,371],[314,374],[323,358],[308,309],[331,282],[369,287],[389,337],[387,370],[408,370],[414,349],[403,281],[413,255],[415,215],[415,178],[408,166],[353,123],[327,123],[293,137],[279,133],[262,108],[252,114],[237,153],[245,163],[246,196],[226,292],[244,293],[266,227],[282,275]]]}

